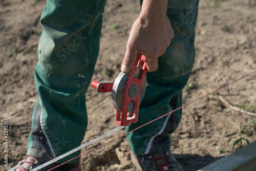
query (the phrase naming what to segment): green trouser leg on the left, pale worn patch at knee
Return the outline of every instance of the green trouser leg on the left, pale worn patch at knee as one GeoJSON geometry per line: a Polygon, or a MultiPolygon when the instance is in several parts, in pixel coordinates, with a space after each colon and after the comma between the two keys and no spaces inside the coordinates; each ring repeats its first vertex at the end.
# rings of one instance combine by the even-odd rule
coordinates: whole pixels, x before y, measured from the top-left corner
{"type": "Polygon", "coordinates": [[[41,162],[70,151],[83,140],[88,122],[85,93],[98,56],[104,5],[105,1],[48,0],[42,12],[35,68],[39,99],[27,151],[41,162]]]}

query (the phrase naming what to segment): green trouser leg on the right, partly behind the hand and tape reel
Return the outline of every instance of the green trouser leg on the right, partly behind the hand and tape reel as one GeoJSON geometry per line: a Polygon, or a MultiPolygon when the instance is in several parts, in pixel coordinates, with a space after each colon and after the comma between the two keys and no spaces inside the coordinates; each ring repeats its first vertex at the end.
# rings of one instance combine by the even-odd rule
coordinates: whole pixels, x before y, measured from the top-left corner
{"type": "MultiPolygon", "coordinates": [[[[174,38],[166,52],[158,58],[158,70],[147,73],[147,89],[139,110],[137,123],[126,132],[154,120],[182,105],[181,90],[185,86],[195,59],[195,25],[198,2],[184,9],[167,9],[174,29],[174,38]]],[[[134,153],[143,155],[166,152],[170,147],[169,133],[177,128],[181,110],[127,134],[134,153]]]]}

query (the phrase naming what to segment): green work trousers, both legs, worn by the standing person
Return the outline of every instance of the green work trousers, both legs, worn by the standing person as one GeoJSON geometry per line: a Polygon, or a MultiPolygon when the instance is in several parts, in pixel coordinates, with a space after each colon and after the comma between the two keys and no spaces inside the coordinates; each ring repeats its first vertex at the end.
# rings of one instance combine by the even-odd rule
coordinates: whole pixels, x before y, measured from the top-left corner
{"type": "MultiPolygon", "coordinates": [[[[194,28],[198,2],[169,3],[167,16],[175,36],[158,59],[158,70],[147,73],[147,89],[136,127],[181,106],[195,59],[194,28]]],[[[85,94],[94,73],[99,51],[105,1],[50,1],[42,12],[43,29],[38,44],[35,82],[39,99],[32,115],[27,155],[46,162],[80,145],[87,130],[85,94]]],[[[178,126],[181,110],[127,135],[136,154],[169,148],[169,133],[178,126]],[[163,139],[163,141],[162,141],[163,139]]],[[[74,158],[73,153],[58,162],[74,158]]],[[[71,162],[76,162],[75,159],[71,162]]]]}

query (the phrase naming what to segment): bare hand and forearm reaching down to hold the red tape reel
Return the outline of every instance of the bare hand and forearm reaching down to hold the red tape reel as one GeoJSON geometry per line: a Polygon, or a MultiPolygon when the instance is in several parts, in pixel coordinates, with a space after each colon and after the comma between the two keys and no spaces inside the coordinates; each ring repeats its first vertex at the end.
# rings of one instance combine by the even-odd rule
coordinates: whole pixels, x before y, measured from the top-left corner
{"type": "Polygon", "coordinates": [[[146,57],[147,71],[156,71],[157,59],[170,45],[174,36],[166,16],[167,0],[144,0],[140,16],[133,24],[126,45],[121,71],[132,69],[137,53],[146,57]]]}

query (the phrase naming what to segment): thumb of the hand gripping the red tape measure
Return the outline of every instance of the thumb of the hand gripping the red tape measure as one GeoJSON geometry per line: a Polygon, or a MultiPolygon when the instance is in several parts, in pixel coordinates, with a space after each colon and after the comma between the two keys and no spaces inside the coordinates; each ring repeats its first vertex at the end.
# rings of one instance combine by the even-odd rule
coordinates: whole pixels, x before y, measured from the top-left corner
{"type": "Polygon", "coordinates": [[[121,67],[121,71],[123,73],[129,72],[133,68],[136,57],[137,57],[137,51],[132,50],[130,48],[126,49],[126,52],[123,58],[122,67],[121,67]]]}

